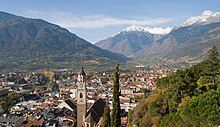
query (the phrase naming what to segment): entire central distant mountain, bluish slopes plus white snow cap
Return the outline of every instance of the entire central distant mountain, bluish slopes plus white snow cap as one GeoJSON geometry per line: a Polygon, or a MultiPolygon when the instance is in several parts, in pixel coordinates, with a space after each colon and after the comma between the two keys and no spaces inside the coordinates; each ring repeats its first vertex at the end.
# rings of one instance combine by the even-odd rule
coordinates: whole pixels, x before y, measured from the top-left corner
{"type": "Polygon", "coordinates": [[[95,43],[95,45],[132,57],[138,51],[149,48],[155,40],[160,39],[166,34],[166,31],[170,30],[150,29],[132,25],[112,37],[95,43]]]}

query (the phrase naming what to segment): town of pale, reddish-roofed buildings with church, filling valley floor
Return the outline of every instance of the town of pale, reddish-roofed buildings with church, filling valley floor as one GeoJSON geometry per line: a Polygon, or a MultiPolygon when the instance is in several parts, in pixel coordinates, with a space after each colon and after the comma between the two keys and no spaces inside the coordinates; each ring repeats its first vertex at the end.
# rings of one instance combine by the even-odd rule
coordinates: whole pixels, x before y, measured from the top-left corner
{"type": "MultiPolygon", "coordinates": [[[[120,72],[121,126],[127,125],[129,110],[157,88],[157,79],[170,72],[161,68],[120,72]]],[[[81,67],[1,74],[0,125],[101,126],[107,99],[112,109],[113,73],[87,73],[81,67]]]]}

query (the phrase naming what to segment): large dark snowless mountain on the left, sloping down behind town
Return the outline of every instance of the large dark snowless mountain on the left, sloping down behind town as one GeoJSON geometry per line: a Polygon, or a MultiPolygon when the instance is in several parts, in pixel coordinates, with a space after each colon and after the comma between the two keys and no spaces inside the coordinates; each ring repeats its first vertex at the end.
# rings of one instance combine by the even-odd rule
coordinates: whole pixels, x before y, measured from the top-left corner
{"type": "Polygon", "coordinates": [[[75,67],[91,60],[102,66],[128,60],[58,25],[5,12],[0,12],[0,48],[0,70],[75,67]]]}

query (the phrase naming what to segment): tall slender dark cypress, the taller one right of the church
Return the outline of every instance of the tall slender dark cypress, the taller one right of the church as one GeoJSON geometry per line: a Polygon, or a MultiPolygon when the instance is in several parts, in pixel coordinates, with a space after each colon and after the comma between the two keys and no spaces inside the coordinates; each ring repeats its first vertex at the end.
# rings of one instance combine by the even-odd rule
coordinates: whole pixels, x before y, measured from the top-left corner
{"type": "Polygon", "coordinates": [[[113,100],[112,100],[112,113],[111,113],[111,127],[120,127],[120,100],[119,100],[119,63],[116,63],[116,70],[113,80],[113,100]]]}

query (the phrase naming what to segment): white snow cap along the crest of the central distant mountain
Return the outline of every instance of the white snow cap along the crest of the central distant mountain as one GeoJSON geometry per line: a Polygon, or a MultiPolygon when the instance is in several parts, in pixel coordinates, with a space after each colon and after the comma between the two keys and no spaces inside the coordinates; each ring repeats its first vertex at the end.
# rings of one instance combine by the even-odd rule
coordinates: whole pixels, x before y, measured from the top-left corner
{"type": "Polygon", "coordinates": [[[171,27],[167,28],[160,28],[160,27],[141,27],[136,25],[131,25],[130,27],[127,27],[126,29],[122,30],[124,32],[131,32],[131,31],[139,31],[139,32],[149,32],[151,34],[168,34],[172,30],[171,27]]]}

